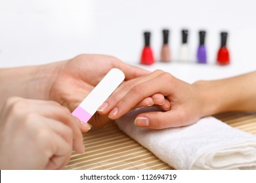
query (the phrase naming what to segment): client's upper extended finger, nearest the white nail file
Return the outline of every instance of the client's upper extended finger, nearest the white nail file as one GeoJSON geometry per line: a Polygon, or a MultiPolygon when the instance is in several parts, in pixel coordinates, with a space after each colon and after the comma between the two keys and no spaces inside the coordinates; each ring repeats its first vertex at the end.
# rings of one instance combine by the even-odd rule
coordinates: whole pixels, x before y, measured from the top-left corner
{"type": "MultiPolygon", "coordinates": [[[[114,106],[123,97],[125,97],[125,95],[128,92],[130,92],[130,90],[132,88],[134,88],[135,86],[139,85],[142,82],[145,82],[147,80],[151,80],[152,78],[155,78],[156,76],[161,75],[161,73],[163,73],[163,71],[157,70],[157,71],[154,71],[153,73],[151,73],[150,75],[146,75],[146,76],[144,76],[142,78],[139,78],[137,80],[132,80],[132,81],[125,82],[124,84],[119,86],[119,88],[117,88],[117,90],[114,93],[112,93],[112,95],[110,95],[110,97],[108,97],[108,99],[102,104],[101,107],[98,108],[98,113],[102,114],[102,115],[108,114],[114,108],[114,106]]],[[[150,96],[148,95],[146,97],[150,97],[150,96]]],[[[142,101],[142,99],[140,101],[142,101]]],[[[140,101],[137,101],[137,103],[139,103],[140,101]]],[[[135,105],[137,105],[137,103],[135,105]]],[[[133,105],[133,107],[135,107],[135,105],[133,105]]]]}

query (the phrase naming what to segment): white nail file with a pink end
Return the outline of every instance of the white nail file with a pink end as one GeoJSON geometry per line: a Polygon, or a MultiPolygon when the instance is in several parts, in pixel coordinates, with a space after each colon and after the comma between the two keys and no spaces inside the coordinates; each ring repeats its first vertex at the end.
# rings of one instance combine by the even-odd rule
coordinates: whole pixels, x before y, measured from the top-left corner
{"type": "Polygon", "coordinates": [[[125,74],[119,69],[111,69],[97,84],[87,97],[72,112],[81,122],[87,123],[96,110],[125,79],[125,74]]]}

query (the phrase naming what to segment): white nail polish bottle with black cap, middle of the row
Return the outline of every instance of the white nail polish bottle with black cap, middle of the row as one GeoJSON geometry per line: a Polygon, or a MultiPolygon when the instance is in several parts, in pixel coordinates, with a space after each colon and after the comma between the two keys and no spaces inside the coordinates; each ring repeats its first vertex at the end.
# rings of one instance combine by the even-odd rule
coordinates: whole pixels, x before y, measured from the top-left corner
{"type": "Polygon", "coordinates": [[[179,49],[179,61],[189,61],[189,49],[188,49],[188,30],[183,29],[182,33],[182,43],[179,49]]]}

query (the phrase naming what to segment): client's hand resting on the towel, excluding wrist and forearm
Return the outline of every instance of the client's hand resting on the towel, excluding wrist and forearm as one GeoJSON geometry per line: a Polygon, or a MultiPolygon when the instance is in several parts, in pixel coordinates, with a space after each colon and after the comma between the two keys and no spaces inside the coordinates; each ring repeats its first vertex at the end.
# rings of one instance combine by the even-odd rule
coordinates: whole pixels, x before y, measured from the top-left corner
{"type": "Polygon", "coordinates": [[[160,70],[144,76],[144,82],[135,84],[131,89],[119,88],[106,100],[108,107],[101,110],[100,114],[109,114],[109,118],[116,120],[155,93],[165,96],[169,101],[169,106],[166,106],[169,109],[139,114],[135,125],[154,129],[179,127],[193,124],[202,116],[203,105],[200,103],[202,100],[199,98],[199,89],[160,70]],[[122,93],[126,94],[123,96],[122,93]],[[119,95],[123,97],[120,98],[119,95]]]}

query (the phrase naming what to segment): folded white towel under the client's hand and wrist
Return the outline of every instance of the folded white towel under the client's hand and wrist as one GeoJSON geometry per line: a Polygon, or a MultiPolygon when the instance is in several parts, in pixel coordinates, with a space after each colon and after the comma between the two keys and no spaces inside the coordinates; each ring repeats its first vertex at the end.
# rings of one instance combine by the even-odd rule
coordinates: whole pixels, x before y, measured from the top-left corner
{"type": "MultiPolygon", "coordinates": [[[[211,116],[196,124],[148,129],[133,124],[144,108],[116,120],[119,129],[175,169],[256,169],[256,136],[211,116]]],[[[144,112],[144,111],[143,111],[144,112]]]]}

